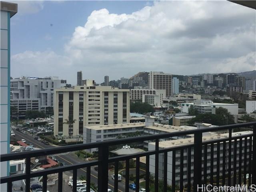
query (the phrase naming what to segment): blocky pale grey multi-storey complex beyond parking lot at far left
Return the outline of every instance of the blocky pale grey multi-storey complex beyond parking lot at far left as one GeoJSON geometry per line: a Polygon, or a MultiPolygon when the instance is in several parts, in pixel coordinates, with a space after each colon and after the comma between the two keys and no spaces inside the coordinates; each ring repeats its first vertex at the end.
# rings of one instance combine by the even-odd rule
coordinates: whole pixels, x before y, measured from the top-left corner
{"type": "Polygon", "coordinates": [[[17,118],[25,118],[26,110],[44,111],[54,105],[54,89],[66,86],[58,77],[22,77],[10,80],[11,106],[17,118]]]}

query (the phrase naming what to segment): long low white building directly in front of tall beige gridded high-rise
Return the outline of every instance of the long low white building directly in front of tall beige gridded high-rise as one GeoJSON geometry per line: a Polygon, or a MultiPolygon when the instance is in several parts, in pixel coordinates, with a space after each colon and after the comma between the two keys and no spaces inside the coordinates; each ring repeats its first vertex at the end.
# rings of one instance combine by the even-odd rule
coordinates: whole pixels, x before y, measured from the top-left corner
{"type": "Polygon", "coordinates": [[[136,87],[136,89],[130,90],[130,100],[142,100],[143,95],[162,95],[162,98],[166,98],[166,90],[140,88],[141,87],[136,87]]]}

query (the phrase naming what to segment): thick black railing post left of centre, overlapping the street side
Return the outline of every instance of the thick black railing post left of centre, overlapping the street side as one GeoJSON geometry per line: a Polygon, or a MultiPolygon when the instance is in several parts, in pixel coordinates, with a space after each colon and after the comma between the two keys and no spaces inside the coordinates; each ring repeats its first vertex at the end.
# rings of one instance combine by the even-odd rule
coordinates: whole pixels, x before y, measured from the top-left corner
{"type": "Polygon", "coordinates": [[[106,192],[108,191],[108,145],[100,146],[98,154],[98,192],[106,192]]]}

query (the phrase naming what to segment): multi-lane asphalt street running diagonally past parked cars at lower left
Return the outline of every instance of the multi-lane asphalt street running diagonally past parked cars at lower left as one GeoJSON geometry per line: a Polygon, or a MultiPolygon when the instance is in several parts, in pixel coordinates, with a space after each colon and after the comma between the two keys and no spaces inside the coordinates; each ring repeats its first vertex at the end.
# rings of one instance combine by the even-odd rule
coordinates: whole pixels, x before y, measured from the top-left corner
{"type": "MultiPolygon", "coordinates": [[[[25,139],[27,143],[33,144],[34,147],[36,147],[36,148],[44,149],[44,148],[54,147],[51,145],[45,145],[42,142],[34,140],[32,134],[22,134],[21,132],[16,131],[15,128],[14,128],[14,132],[16,135],[15,136],[16,139],[18,139],[18,140],[25,139]]],[[[56,158],[60,162],[66,163],[67,165],[83,162],[82,159],[76,158],[76,157],[72,156],[72,154],[66,154],[66,153],[55,155],[54,158],[56,158]]],[[[70,175],[72,175],[72,174],[70,173],[70,175]]],[[[86,176],[86,168],[81,168],[81,169],[77,170],[77,178],[79,178],[82,175],[86,176]]],[[[94,170],[94,167],[92,167],[92,169],[91,169],[91,182],[93,182],[95,185],[98,184],[98,172],[94,170]]],[[[112,180],[112,175],[110,173],[109,173],[108,188],[114,191],[114,180],[112,180]]],[[[70,188],[70,191],[71,191],[71,188],[70,188]]],[[[118,182],[118,191],[119,192],[125,191],[125,183],[123,181],[118,182]]],[[[129,189],[129,191],[134,192],[131,189],[129,189]]]]}

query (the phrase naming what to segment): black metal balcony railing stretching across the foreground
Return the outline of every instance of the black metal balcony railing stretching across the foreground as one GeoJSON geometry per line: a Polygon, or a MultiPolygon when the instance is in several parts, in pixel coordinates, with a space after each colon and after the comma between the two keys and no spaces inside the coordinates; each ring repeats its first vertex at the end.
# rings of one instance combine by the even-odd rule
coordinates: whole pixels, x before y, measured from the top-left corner
{"type": "MultiPolygon", "coordinates": [[[[140,157],[146,157],[146,192],[150,191],[150,156],[154,156],[154,191],[160,191],[159,178],[163,178],[163,192],[167,192],[168,183],[171,191],[201,191],[202,184],[215,186],[234,186],[235,184],[256,184],[256,122],[203,128],[196,130],[177,131],[165,134],[139,136],[77,144],[72,146],[54,147],[36,151],[2,154],[1,162],[26,159],[24,174],[1,177],[1,184],[7,183],[8,192],[12,191],[12,182],[25,180],[26,192],[30,191],[30,178],[42,176],[42,190],[47,190],[47,175],[58,173],[58,191],[62,191],[62,173],[73,171],[73,192],[76,191],[77,170],[86,168],[86,188],[90,191],[90,170],[98,166],[98,192],[108,191],[108,164],[114,163],[114,192],[118,192],[118,162],[125,161],[125,192],[129,191],[129,160],[136,158],[136,192],[139,191],[140,157]],[[234,128],[252,128],[253,132],[246,135],[232,136],[234,128]],[[203,141],[202,134],[228,130],[227,138],[203,141]],[[194,134],[194,142],[175,147],[161,148],[159,143],[165,138],[194,134]],[[155,149],[130,155],[109,157],[109,147],[134,142],[155,141],[155,149]],[[239,147],[239,150],[238,150],[239,147]],[[58,154],[98,148],[98,160],[82,162],[67,166],[49,168],[36,172],[30,170],[30,159],[36,156],[58,154]],[[208,153],[209,151],[209,153],[208,153]],[[169,160],[168,160],[169,158],[169,160]],[[178,160],[177,160],[178,159],[178,160]],[[163,163],[163,174],[159,174],[160,161],[163,163]],[[172,162],[168,166],[168,162],[172,162]],[[209,163],[208,163],[209,162],[209,163]],[[254,162],[254,163],[253,163],[254,162]],[[184,166],[186,165],[186,166],[184,166]],[[180,169],[177,171],[177,166],[180,169]],[[170,168],[169,168],[170,167],[170,168]],[[169,170],[168,170],[169,169],[169,170]],[[171,172],[168,178],[168,171],[171,172]],[[179,174],[178,174],[179,173],[179,174]],[[177,176],[178,174],[178,176],[177,176]],[[246,178],[248,175],[248,178],[246,178]],[[177,179],[176,179],[177,178],[177,179]],[[171,182],[168,180],[171,180],[171,182]]],[[[161,186],[162,187],[162,186],[161,186]]],[[[169,190],[170,191],[170,190],[169,190]]]]}

